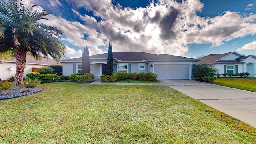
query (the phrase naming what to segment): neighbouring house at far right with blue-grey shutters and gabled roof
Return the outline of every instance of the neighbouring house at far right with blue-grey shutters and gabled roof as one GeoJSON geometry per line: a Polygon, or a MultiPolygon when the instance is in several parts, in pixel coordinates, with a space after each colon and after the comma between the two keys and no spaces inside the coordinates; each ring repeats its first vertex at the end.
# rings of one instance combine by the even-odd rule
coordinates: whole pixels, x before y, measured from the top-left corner
{"type": "Polygon", "coordinates": [[[256,77],[256,56],[243,56],[237,52],[228,52],[225,54],[210,54],[199,58],[201,61],[196,64],[210,64],[223,73],[248,72],[249,77],[256,77]]]}

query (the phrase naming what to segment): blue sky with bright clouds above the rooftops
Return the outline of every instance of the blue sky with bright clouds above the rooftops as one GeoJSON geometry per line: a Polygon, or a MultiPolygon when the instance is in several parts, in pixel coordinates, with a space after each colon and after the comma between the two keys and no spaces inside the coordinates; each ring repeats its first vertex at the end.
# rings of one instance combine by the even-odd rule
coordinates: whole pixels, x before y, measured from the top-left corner
{"type": "Polygon", "coordinates": [[[140,51],[256,55],[256,0],[34,0],[63,30],[66,56],[140,51]]]}

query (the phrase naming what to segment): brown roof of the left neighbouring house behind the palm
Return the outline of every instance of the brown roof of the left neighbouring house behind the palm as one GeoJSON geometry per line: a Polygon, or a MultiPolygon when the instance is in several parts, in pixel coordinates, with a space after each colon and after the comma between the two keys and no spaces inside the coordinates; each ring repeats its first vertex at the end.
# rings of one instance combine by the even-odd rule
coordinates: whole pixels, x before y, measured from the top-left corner
{"type": "MultiPolygon", "coordinates": [[[[8,58],[7,60],[2,60],[4,62],[16,62],[15,58],[8,58]]],[[[36,60],[36,58],[31,55],[27,55],[26,64],[39,64],[39,65],[56,65],[60,64],[51,58],[41,57],[41,60],[36,60]]]]}

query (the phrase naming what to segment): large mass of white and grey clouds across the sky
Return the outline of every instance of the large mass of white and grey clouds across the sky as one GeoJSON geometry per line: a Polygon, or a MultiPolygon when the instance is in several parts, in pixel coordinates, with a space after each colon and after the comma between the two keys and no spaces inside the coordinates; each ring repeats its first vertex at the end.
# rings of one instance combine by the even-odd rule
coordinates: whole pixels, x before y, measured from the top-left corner
{"type": "MultiPolygon", "coordinates": [[[[64,30],[62,40],[80,48],[88,45],[90,54],[107,52],[110,40],[113,51],[186,56],[189,44],[215,47],[256,34],[256,14],[226,11],[212,18],[201,17],[197,13],[204,4],[199,0],[160,0],[136,9],[112,5],[111,0],[68,0],[67,3],[83,24],[54,15],[49,16],[51,21],[43,22],[64,30]],[[82,14],[81,8],[93,16],[82,14]],[[98,22],[97,17],[101,19],[98,22]]],[[[248,8],[251,6],[254,5],[248,8]]]]}

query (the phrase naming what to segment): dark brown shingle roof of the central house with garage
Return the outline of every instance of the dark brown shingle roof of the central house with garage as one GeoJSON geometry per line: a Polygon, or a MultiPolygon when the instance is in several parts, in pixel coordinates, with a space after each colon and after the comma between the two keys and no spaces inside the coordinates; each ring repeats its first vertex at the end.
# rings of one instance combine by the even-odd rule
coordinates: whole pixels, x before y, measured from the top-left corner
{"type": "MultiPolygon", "coordinates": [[[[150,54],[146,52],[112,52],[113,58],[118,61],[142,61],[142,60],[194,60],[194,58],[185,58],[182,56],[173,56],[168,54],[150,54]]],[[[93,59],[107,59],[108,53],[96,54],[89,56],[90,60],[93,59]]],[[[69,60],[63,60],[60,62],[81,62],[82,58],[73,58],[69,60]]]]}

